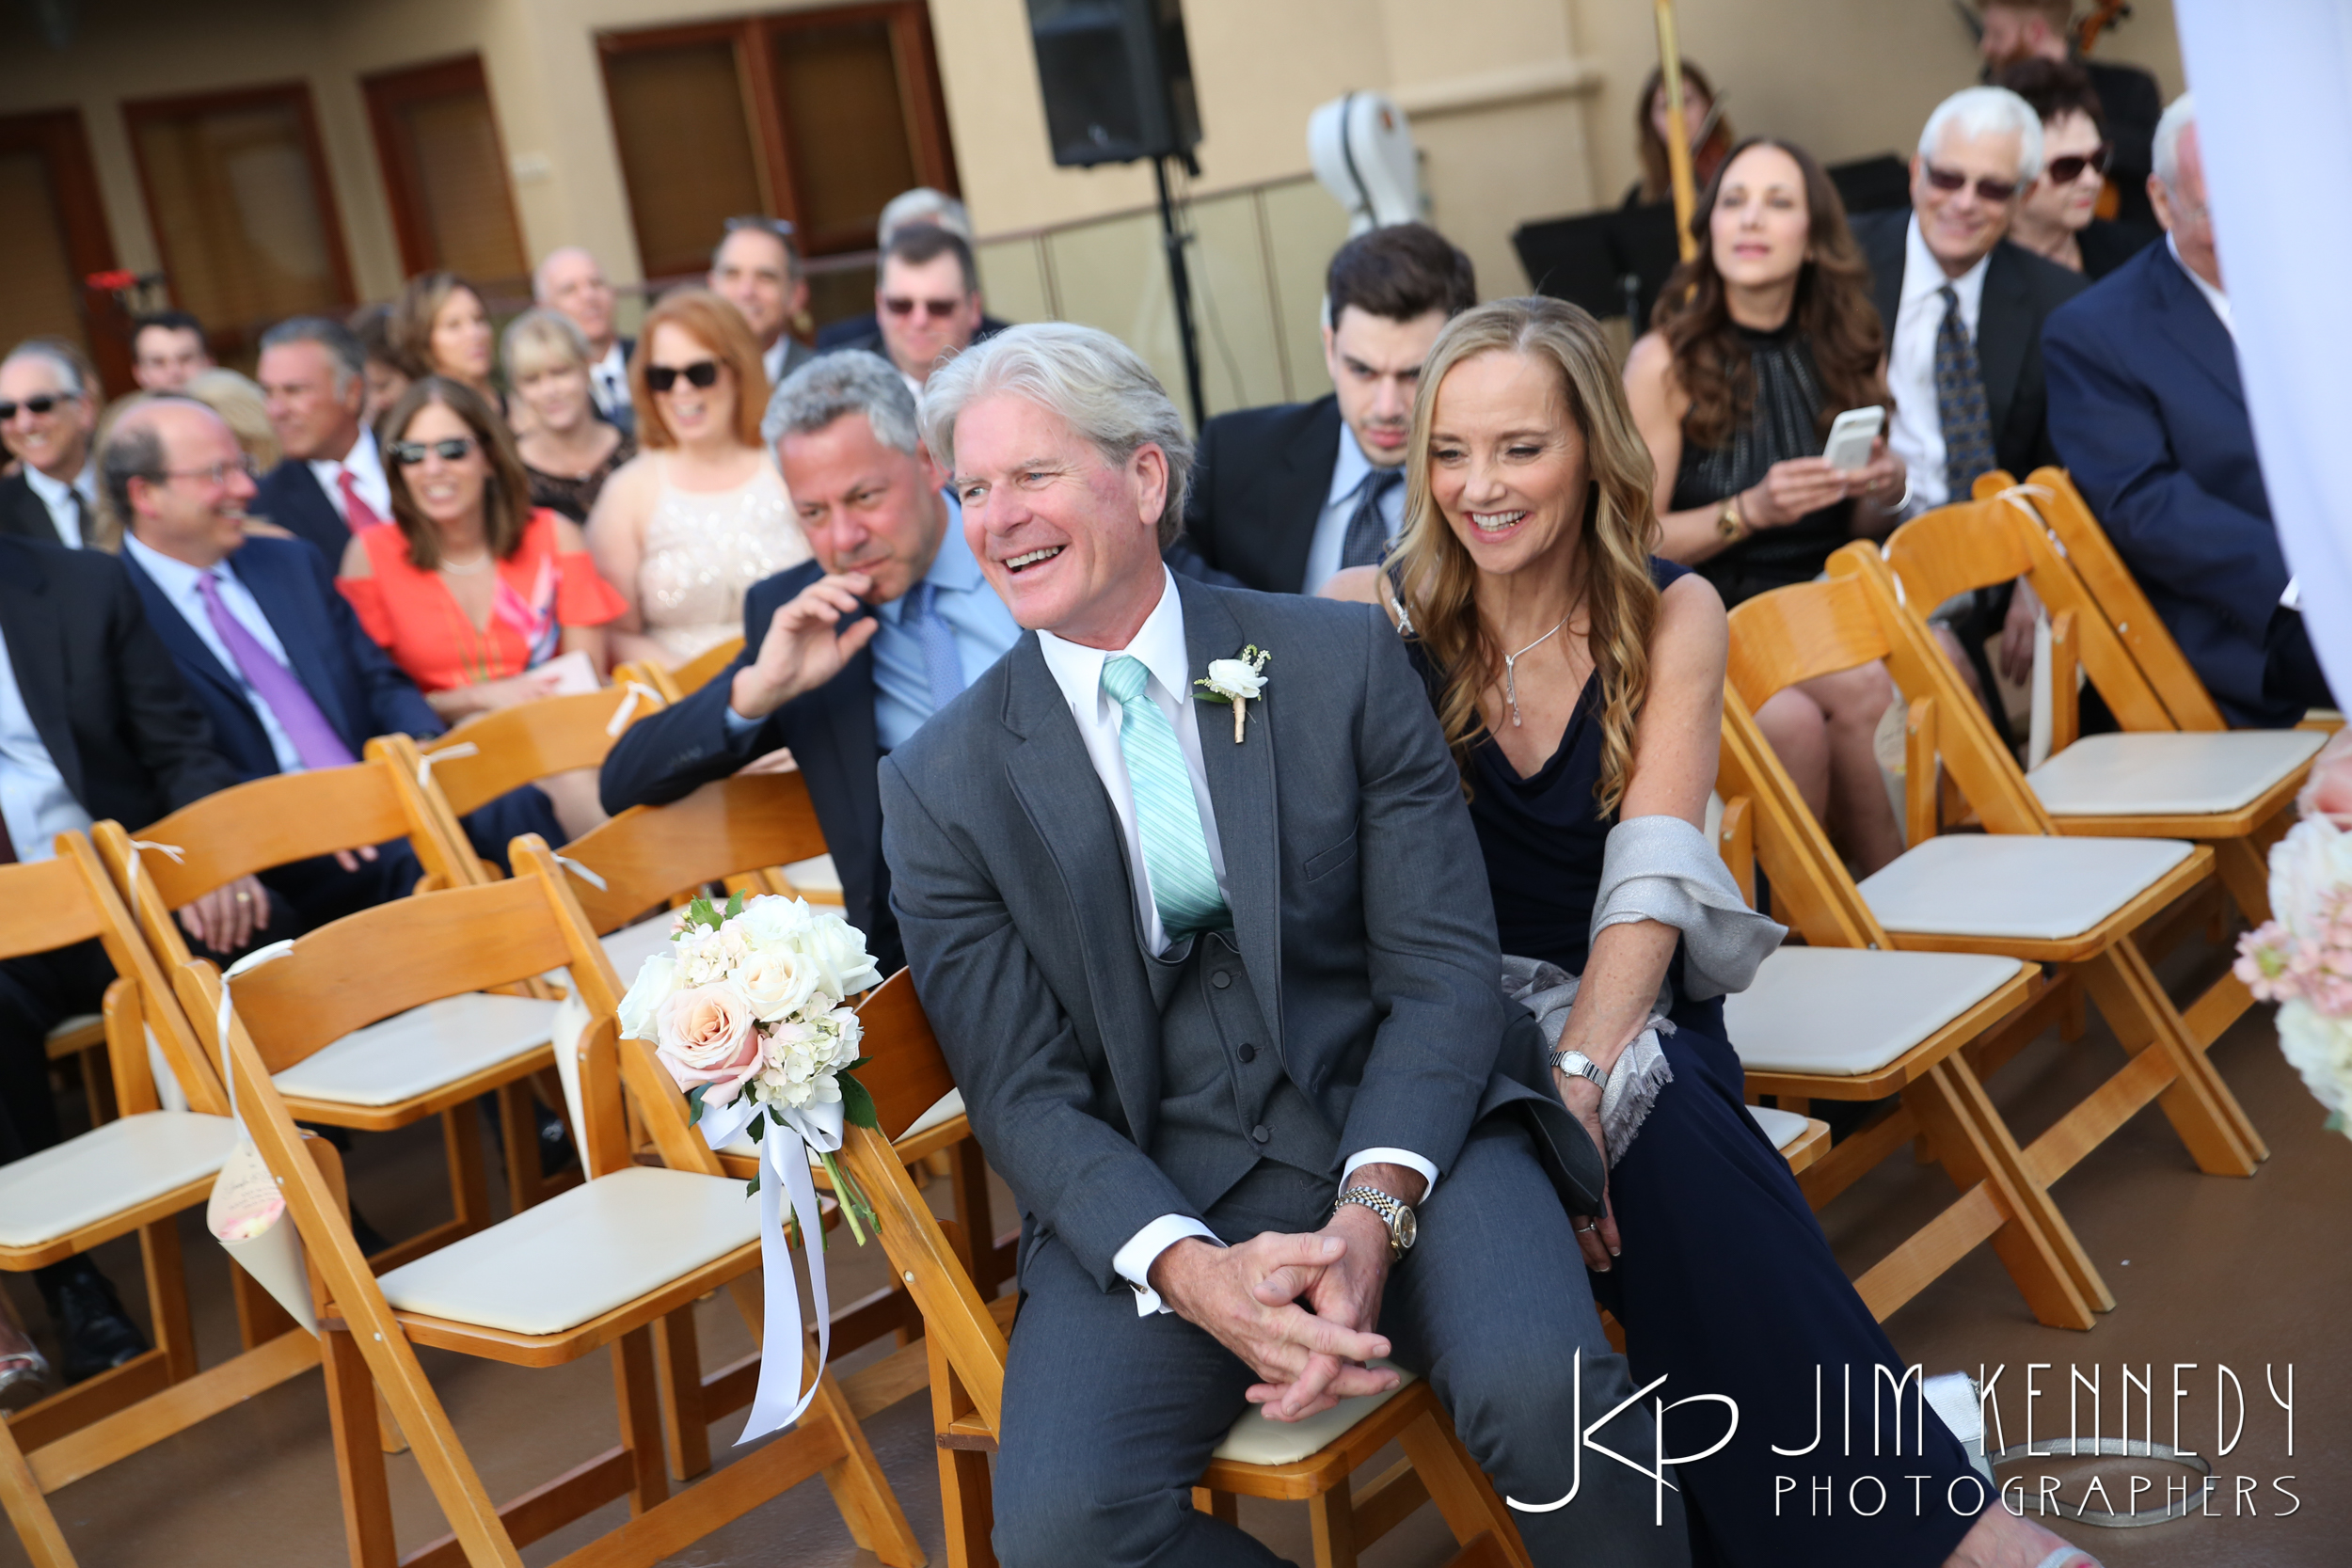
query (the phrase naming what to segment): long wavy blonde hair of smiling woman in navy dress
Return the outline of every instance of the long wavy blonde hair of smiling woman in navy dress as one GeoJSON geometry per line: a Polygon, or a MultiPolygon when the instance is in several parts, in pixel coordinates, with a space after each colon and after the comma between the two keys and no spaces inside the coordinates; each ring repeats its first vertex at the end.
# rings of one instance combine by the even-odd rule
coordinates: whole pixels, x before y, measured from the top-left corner
{"type": "Polygon", "coordinates": [[[1498,299],[1446,322],[1421,369],[1414,397],[1414,437],[1406,447],[1404,536],[1390,557],[1397,569],[1404,635],[1421,642],[1435,668],[1437,719],[1454,762],[1470,783],[1470,750],[1484,738],[1477,698],[1503,675],[1503,646],[1477,614],[1477,567],[1470,550],[1430,498],[1430,421],[1437,393],[1463,360],[1512,353],[1559,367],[1562,402],[1585,437],[1585,501],[1581,604],[1599,677],[1602,813],[1625,799],[1632,776],[1635,719],[1649,696],[1649,637],[1658,625],[1658,585],[1649,550],[1658,538],[1651,503],[1649,444],[1635,430],[1625,386],[1599,322],[1557,299],[1498,299]]]}

